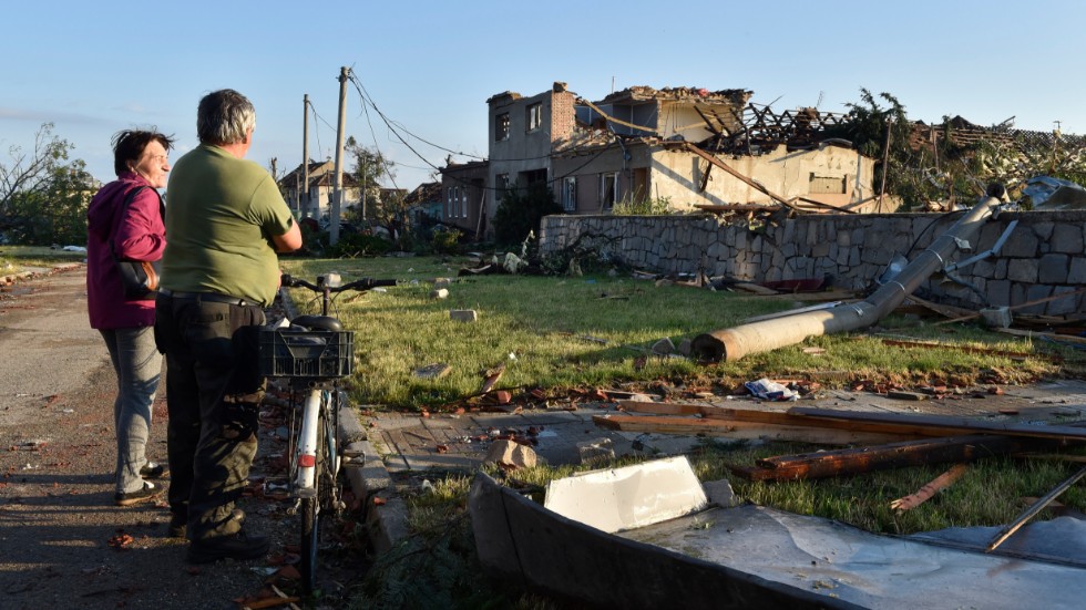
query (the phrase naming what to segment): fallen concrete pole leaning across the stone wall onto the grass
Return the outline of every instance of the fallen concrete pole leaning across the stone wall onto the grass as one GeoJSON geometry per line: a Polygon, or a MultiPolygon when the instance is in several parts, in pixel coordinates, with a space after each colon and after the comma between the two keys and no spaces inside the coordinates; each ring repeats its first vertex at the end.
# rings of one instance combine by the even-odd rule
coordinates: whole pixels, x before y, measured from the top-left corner
{"type": "Polygon", "coordinates": [[[864,301],[700,334],[691,342],[691,353],[703,361],[734,361],[749,354],[793,345],[808,337],[870,327],[885,318],[924,280],[942,269],[957,249],[959,240],[970,241],[998,205],[1000,199],[995,197],[982,199],[864,301]]]}

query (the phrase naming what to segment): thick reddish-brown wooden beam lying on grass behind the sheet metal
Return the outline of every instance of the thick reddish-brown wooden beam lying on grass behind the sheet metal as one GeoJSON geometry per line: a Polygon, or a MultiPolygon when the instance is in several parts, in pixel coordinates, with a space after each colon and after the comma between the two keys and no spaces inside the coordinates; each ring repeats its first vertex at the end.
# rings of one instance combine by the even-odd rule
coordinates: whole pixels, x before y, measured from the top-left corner
{"type": "Polygon", "coordinates": [[[767,457],[759,459],[756,464],[759,467],[778,472],[779,475],[771,477],[777,480],[824,478],[900,468],[902,466],[920,466],[946,462],[973,462],[981,457],[1031,451],[1042,446],[1052,446],[1053,444],[1055,444],[1055,441],[973,434],[969,436],[950,436],[946,438],[925,438],[922,441],[891,443],[881,446],[767,457]]]}

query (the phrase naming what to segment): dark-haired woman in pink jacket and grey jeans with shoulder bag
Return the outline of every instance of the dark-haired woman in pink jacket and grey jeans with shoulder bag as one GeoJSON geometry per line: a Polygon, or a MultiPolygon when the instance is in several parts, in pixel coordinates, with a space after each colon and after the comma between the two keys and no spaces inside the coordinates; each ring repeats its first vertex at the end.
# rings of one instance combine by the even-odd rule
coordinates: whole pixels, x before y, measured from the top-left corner
{"type": "Polygon", "coordinates": [[[166,186],[172,146],[173,139],[154,128],[117,133],[113,137],[117,179],[98,192],[86,211],[88,311],[91,328],[105,339],[117,376],[113,402],[117,448],[113,499],[117,506],[154,499],[162,489],[147,479],[165,474],[145,453],[162,372],[162,354],[154,341],[154,297],[125,298],[114,251],[130,260],[162,258],[166,231],[157,189],[166,186]]]}

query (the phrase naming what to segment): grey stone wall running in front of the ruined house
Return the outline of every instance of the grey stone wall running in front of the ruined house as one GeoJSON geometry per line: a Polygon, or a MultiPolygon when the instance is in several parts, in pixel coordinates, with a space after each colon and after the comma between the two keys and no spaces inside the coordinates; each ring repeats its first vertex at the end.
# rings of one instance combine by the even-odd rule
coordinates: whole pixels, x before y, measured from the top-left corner
{"type": "MultiPolygon", "coordinates": [[[[807,215],[750,226],[708,215],[549,216],[540,249],[554,252],[584,235],[626,265],[657,272],[695,273],[700,268],[710,277],[755,282],[831,276],[836,287],[863,290],[875,285],[894,255],[912,260],[959,218],[961,214],[807,215]]],[[[987,303],[946,280],[931,279],[918,294],[970,308],[1017,306],[1086,285],[1084,210],[1002,213],[981,228],[970,251],[952,260],[992,248],[1012,220],[1017,227],[998,254],[953,273],[987,303]]],[[[1086,294],[1016,310],[1049,316],[1084,311],[1086,294]]]]}

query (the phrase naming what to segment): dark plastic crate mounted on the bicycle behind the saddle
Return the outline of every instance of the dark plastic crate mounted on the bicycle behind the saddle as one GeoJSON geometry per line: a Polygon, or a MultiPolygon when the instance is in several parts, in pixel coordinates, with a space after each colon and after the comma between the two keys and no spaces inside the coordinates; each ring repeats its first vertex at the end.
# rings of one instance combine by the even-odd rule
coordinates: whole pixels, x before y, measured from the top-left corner
{"type": "Polygon", "coordinates": [[[326,330],[260,331],[260,374],[272,378],[344,378],[355,364],[355,333],[326,330]]]}

